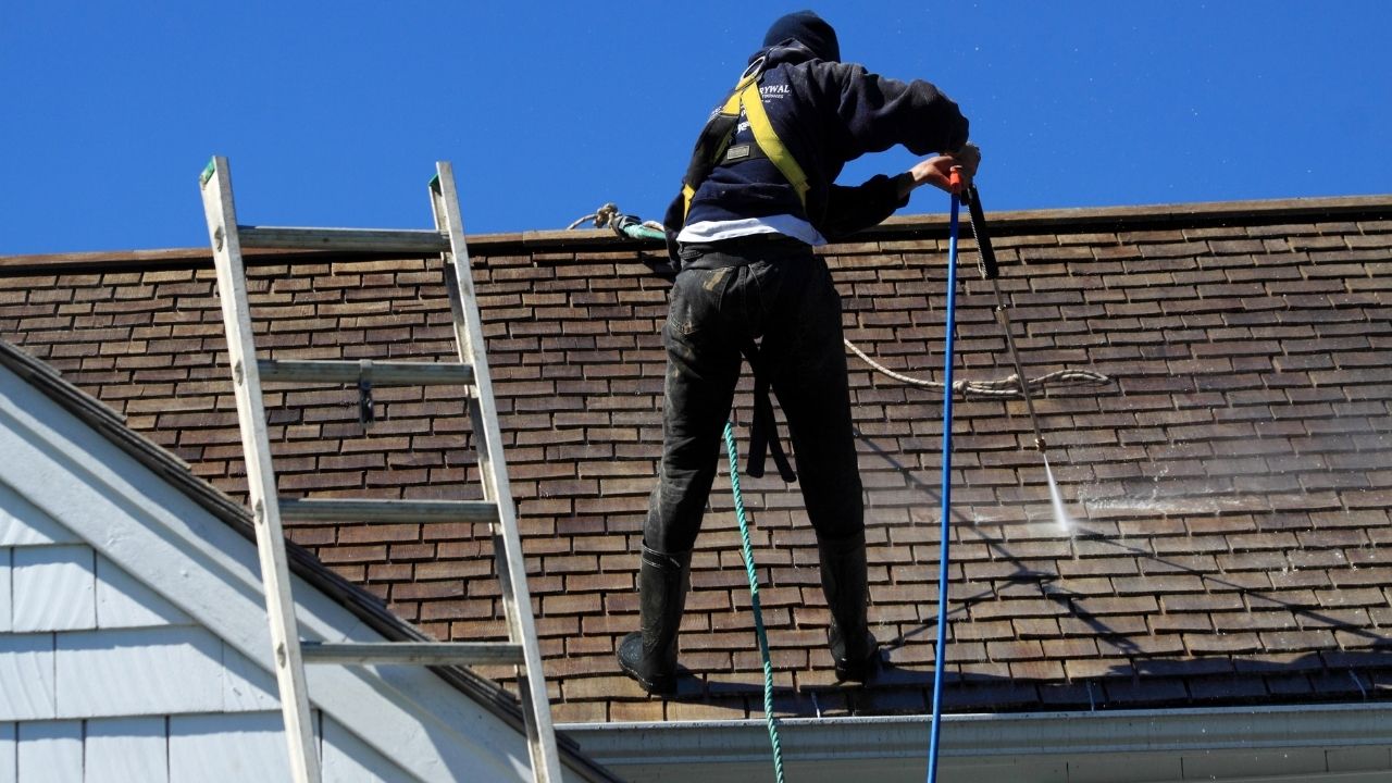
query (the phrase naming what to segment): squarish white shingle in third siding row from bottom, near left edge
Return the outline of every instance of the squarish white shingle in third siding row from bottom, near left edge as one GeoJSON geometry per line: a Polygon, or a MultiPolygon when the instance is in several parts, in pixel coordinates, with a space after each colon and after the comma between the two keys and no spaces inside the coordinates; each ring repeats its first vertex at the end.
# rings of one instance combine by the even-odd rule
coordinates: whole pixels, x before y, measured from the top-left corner
{"type": "Polygon", "coordinates": [[[24,631],[96,627],[96,555],[82,545],[14,550],[14,617],[24,631]]]}

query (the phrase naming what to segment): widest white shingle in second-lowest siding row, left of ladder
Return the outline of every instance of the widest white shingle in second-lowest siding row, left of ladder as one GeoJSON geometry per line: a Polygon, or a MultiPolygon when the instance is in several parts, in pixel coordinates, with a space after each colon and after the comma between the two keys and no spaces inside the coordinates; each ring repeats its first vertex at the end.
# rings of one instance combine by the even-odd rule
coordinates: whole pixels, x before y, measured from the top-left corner
{"type": "Polygon", "coordinates": [[[221,659],[221,642],[196,627],[58,634],[58,715],[217,712],[221,659]]]}

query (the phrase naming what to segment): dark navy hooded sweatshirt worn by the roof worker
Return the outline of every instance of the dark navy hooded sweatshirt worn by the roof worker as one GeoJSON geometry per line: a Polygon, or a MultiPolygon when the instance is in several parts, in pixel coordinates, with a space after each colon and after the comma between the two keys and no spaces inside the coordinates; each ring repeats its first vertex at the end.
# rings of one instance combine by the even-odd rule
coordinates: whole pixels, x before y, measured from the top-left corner
{"type": "MultiPolygon", "coordinates": [[[[668,208],[664,223],[681,231],[686,223],[793,215],[812,223],[827,240],[869,228],[908,203],[895,181],[878,174],[857,187],[834,184],[842,166],[867,152],[902,144],[924,156],[959,149],[967,141],[967,120],[956,103],[926,81],[901,82],[853,63],[823,60],[796,40],[761,49],[760,78],[768,121],[807,176],[807,206],[767,157],[715,166],[696,189],[683,223],[682,198],[668,208]]],[[[741,116],[731,144],[753,144],[741,116]]]]}

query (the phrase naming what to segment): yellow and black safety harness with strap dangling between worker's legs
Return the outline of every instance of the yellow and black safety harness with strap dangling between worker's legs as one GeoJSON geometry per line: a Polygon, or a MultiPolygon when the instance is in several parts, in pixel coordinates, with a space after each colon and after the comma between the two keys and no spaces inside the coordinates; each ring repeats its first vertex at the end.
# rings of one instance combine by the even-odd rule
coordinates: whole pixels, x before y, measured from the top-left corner
{"type": "MultiPolygon", "coordinates": [[[[696,141],[696,149],[692,152],[692,162],[686,167],[686,177],[682,180],[681,220],[671,220],[674,216],[668,215],[668,226],[686,222],[686,215],[690,213],[692,208],[692,198],[695,198],[696,191],[706,181],[706,177],[715,170],[715,166],[753,160],[756,157],[767,157],[778,169],[784,178],[788,180],[788,184],[792,185],[793,192],[798,194],[798,201],[802,203],[803,212],[806,212],[807,174],[803,173],[802,166],[798,164],[798,160],[784,146],[782,139],[774,132],[773,123],[768,121],[768,111],[764,110],[763,95],[759,91],[759,79],[764,74],[764,63],[766,59],[760,57],[741,74],[735,89],[729,92],[725,103],[702,130],[700,138],[696,141]],[[752,145],[731,144],[739,128],[741,116],[749,120],[749,130],[754,137],[754,144],[752,145]]],[[[745,472],[754,478],[763,476],[764,457],[771,454],[774,465],[778,467],[778,475],[789,483],[795,482],[798,481],[798,474],[793,472],[792,465],[788,463],[788,456],[784,453],[782,443],[778,440],[778,421],[774,418],[773,400],[768,397],[768,357],[763,355],[759,343],[754,340],[746,340],[741,346],[741,352],[745,354],[745,359],[749,361],[749,368],[754,373],[754,418],[749,429],[749,463],[745,467],[745,472]]]]}

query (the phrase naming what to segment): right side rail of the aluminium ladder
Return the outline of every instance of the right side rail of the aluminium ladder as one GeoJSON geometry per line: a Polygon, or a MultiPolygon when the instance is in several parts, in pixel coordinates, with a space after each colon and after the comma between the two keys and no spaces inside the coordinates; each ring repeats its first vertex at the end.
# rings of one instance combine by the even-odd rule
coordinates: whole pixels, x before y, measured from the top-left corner
{"type": "Polygon", "coordinates": [[[483,343],[483,323],[473,290],[464,222],[459,216],[459,196],[454,187],[454,167],[447,162],[438,162],[436,173],[434,183],[438,189],[432,187],[430,195],[436,227],[447,233],[450,238],[451,252],[447,261],[452,261],[452,263],[445,266],[445,280],[450,288],[450,307],[454,311],[459,361],[473,366],[476,385],[469,411],[473,417],[479,472],[484,497],[497,503],[498,507],[496,535],[503,538],[504,557],[497,559],[497,563],[498,577],[504,588],[508,635],[514,644],[522,646],[526,662],[521,672],[518,691],[522,694],[523,715],[530,718],[528,720],[528,745],[532,752],[532,775],[537,783],[560,783],[561,763],[555,747],[555,729],[551,723],[551,704],[546,692],[536,621],[532,617],[532,598],[526,584],[526,560],[518,532],[516,509],[512,503],[512,489],[503,457],[503,433],[498,429],[498,412],[493,400],[493,380],[483,343]],[[508,592],[511,592],[511,600],[508,592]]]}

